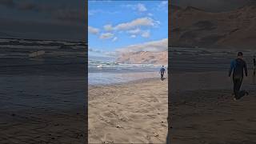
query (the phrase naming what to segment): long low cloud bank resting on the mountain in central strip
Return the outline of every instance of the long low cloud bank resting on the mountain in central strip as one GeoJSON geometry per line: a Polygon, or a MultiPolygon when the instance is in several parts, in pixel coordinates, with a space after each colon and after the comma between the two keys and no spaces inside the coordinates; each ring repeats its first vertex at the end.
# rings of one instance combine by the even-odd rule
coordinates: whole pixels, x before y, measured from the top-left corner
{"type": "Polygon", "coordinates": [[[137,45],[130,45],[117,49],[118,53],[126,52],[138,52],[138,51],[150,51],[161,52],[168,50],[168,38],[164,38],[159,41],[145,42],[137,45]]]}

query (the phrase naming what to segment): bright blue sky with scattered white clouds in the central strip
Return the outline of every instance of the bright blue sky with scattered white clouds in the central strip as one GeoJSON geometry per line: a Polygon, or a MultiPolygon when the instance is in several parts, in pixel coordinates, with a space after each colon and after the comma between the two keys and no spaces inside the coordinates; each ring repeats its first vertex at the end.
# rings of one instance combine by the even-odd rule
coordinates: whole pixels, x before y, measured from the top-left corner
{"type": "Polygon", "coordinates": [[[151,46],[149,43],[159,45],[166,38],[168,1],[88,2],[89,55],[106,55],[130,47],[134,50],[136,46],[143,49],[144,45],[151,46]]]}

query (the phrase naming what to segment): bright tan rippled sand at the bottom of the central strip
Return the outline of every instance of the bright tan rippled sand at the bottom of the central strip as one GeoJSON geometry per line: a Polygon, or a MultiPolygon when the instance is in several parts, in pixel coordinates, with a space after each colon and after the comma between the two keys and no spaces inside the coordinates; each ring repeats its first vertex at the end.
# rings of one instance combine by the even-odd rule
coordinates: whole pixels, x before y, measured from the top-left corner
{"type": "Polygon", "coordinates": [[[168,82],[89,86],[89,143],[165,143],[168,82]]]}

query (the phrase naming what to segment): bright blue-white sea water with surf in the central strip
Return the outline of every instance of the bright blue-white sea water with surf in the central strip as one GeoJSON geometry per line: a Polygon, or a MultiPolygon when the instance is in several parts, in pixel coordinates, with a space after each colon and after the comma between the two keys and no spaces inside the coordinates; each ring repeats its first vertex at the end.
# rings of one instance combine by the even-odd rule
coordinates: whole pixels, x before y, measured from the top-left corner
{"type": "Polygon", "coordinates": [[[89,59],[89,85],[110,85],[146,78],[160,78],[161,66],[153,64],[122,64],[89,59]]]}

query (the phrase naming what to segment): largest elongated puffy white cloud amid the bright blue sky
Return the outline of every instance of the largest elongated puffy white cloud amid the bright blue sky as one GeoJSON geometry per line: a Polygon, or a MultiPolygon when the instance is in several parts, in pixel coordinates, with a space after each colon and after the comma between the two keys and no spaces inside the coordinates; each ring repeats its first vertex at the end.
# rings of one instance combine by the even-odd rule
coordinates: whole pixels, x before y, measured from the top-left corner
{"type": "Polygon", "coordinates": [[[138,26],[158,26],[160,22],[155,21],[152,18],[137,18],[131,22],[120,23],[118,26],[114,26],[114,30],[130,30],[138,26]]]}

